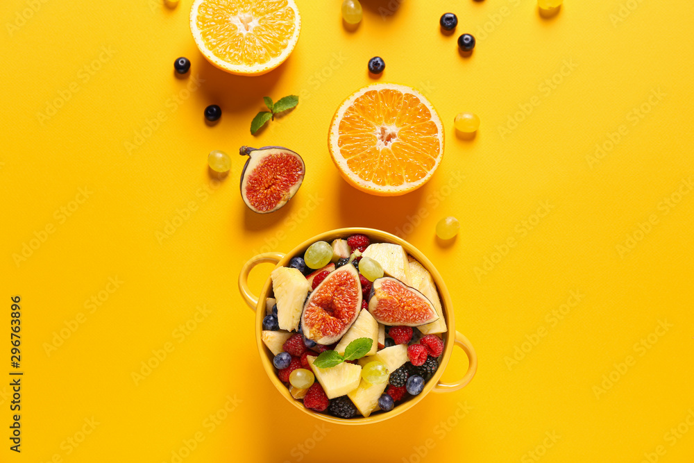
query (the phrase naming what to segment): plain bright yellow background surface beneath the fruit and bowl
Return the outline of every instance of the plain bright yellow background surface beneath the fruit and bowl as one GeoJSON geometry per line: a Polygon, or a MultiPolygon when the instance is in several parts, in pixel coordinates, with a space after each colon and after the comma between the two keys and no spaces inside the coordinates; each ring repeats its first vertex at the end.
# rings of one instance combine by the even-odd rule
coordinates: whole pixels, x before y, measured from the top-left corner
{"type": "MultiPolygon", "coordinates": [[[[10,296],[21,295],[25,376],[21,455],[8,450],[9,379],[0,381],[0,460],[171,462],[199,433],[183,461],[641,462],[658,446],[664,454],[651,459],[691,461],[694,194],[678,196],[694,178],[691,3],[567,0],[543,18],[531,0],[393,0],[400,6],[391,10],[364,0],[354,32],[341,24],[338,0],[297,3],[303,27],[291,58],[243,78],[198,53],[189,0],[174,9],[155,0],[2,2],[0,332],[9,330],[10,296]],[[455,35],[439,31],[448,10],[459,18],[455,35]],[[469,58],[455,43],[464,32],[477,36],[469,58]],[[335,108],[373,81],[366,62],[375,55],[387,63],[380,80],[420,88],[446,127],[437,174],[396,199],[348,187],[325,143],[335,108]],[[178,56],[192,60],[188,78],[174,76],[178,56]],[[68,91],[51,117],[39,114],[68,91]],[[287,94],[301,95],[298,108],[251,136],[262,96],[287,94]],[[223,110],[216,126],[203,120],[210,103],[223,110]],[[482,120],[474,140],[452,127],[465,110],[482,120]],[[142,146],[128,149],[138,133],[142,146]],[[303,155],[305,183],[279,212],[255,215],[242,203],[244,159],[235,153],[244,144],[303,155]],[[596,144],[607,146],[597,163],[596,144]],[[206,166],[212,149],[233,156],[219,184],[206,166]],[[450,188],[456,175],[464,180],[450,188]],[[533,217],[541,201],[550,213],[533,217]],[[446,246],[434,226],[449,214],[461,230],[446,246]],[[46,226],[53,233],[44,236],[46,226]],[[465,389],[430,394],[384,423],[316,430],[320,422],[266,378],[237,275],[263,246],[286,251],[341,226],[398,232],[430,257],[480,368],[465,389]],[[638,242],[620,255],[627,234],[638,242]],[[25,244],[37,249],[17,263],[25,244]],[[496,262],[478,278],[485,258],[496,262]],[[109,278],[122,283],[115,289],[109,278]],[[554,324],[552,310],[571,291],[582,300],[554,324]],[[93,311],[92,297],[103,301],[93,311]],[[209,314],[182,335],[178,326],[201,305],[209,314]],[[659,321],[672,326],[653,334],[659,321]],[[639,347],[649,335],[650,347],[639,347]],[[173,350],[134,380],[164,346],[173,350]],[[516,347],[525,357],[509,363],[521,357],[516,347]],[[603,375],[616,382],[596,392],[603,375]],[[234,410],[210,426],[228,397],[234,410]],[[94,430],[85,425],[92,417],[94,430]]],[[[268,272],[253,273],[256,291],[268,272]]],[[[0,371],[9,371],[4,343],[0,371]]],[[[454,351],[443,378],[465,365],[454,351]]]]}

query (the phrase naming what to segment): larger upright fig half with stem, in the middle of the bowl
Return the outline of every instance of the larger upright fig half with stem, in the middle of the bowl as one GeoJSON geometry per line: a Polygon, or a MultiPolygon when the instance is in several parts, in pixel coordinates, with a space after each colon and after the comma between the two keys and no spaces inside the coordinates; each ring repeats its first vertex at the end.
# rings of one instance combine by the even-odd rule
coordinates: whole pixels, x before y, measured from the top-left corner
{"type": "Polygon", "coordinates": [[[362,308],[362,284],[353,265],[332,271],[307,299],[301,314],[303,335],[318,344],[337,342],[362,308]]]}

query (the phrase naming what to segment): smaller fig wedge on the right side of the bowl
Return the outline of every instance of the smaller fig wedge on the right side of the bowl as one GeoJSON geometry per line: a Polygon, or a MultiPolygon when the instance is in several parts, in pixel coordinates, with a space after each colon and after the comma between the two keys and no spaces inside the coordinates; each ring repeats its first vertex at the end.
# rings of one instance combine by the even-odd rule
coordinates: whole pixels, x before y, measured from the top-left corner
{"type": "Polygon", "coordinates": [[[389,276],[373,280],[369,312],[376,321],[390,326],[420,326],[439,319],[424,294],[389,276]]]}

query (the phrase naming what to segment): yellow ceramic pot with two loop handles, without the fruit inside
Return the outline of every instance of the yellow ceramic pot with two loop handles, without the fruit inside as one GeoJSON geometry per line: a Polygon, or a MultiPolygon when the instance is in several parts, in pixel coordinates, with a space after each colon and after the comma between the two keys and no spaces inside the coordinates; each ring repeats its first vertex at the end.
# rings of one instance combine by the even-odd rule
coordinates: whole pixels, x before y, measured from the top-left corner
{"type": "Polygon", "coordinates": [[[434,268],[432,263],[425,257],[425,255],[421,253],[421,251],[412,246],[412,244],[406,242],[404,239],[400,239],[399,237],[391,235],[390,233],[386,233],[381,230],[373,230],[373,228],[339,228],[337,230],[331,230],[325,233],[321,233],[320,235],[316,235],[310,239],[307,239],[305,242],[299,244],[294,249],[289,251],[289,253],[287,254],[258,254],[255,257],[251,258],[251,260],[248,260],[248,262],[246,262],[244,267],[241,269],[241,273],[239,275],[239,290],[241,291],[241,295],[246,300],[246,303],[248,303],[248,305],[253,310],[255,310],[255,339],[258,347],[258,352],[260,352],[260,360],[262,361],[263,368],[265,369],[267,376],[273,382],[273,385],[277,387],[277,390],[280,392],[280,394],[282,394],[282,396],[285,396],[285,398],[289,402],[293,403],[294,406],[296,406],[299,410],[301,410],[304,413],[310,414],[311,416],[315,416],[316,418],[322,419],[324,421],[340,424],[378,423],[379,421],[392,418],[393,416],[396,416],[414,407],[414,405],[417,405],[417,403],[419,403],[424,398],[424,396],[431,391],[457,391],[461,387],[467,385],[468,382],[472,380],[473,376],[475,376],[475,371],[477,371],[477,354],[475,354],[475,349],[466,337],[464,337],[461,333],[455,330],[455,317],[453,314],[453,305],[450,301],[450,294],[448,294],[448,289],[446,289],[446,285],[443,283],[443,279],[441,279],[441,275],[439,275],[437,269],[434,268]],[[287,387],[284,384],[282,384],[280,379],[277,377],[275,367],[273,367],[272,364],[273,355],[265,348],[264,344],[262,343],[262,340],[260,339],[260,332],[262,331],[262,319],[265,317],[265,300],[269,297],[269,294],[272,291],[272,282],[271,279],[268,278],[265,282],[265,285],[262,288],[262,291],[260,292],[260,296],[255,296],[251,292],[251,290],[248,289],[248,273],[251,273],[251,269],[253,269],[253,267],[255,267],[257,264],[261,264],[263,262],[271,262],[273,264],[276,264],[277,267],[286,266],[287,264],[289,264],[289,260],[291,258],[293,258],[295,255],[303,255],[307,247],[316,241],[332,242],[333,239],[345,238],[350,235],[354,235],[355,233],[363,233],[364,235],[369,236],[372,242],[387,242],[400,244],[400,246],[403,246],[403,248],[405,248],[405,251],[407,251],[409,255],[412,255],[412,257],[421,262],[425,269],[427,269],[431,273],[432,278],[434,278],[434,283],[436,283],[437,287],[439,288],[439,295],[441,296],[441,305],[443,306],[443,317],[446,317],[448,331],[443,333],[443,335],[445,336],[444,341],[446,342],[446,348],[443,351],[443,357],[441,358],[441,364],[439,365],[439,369],[437,369],[437,372],[434,374],[434,377],[426,382],[424,390],[421,392],[421,394],[419,394],[418,396],[408,398],[405,402],[400,403],[395,408],[393,408],[393,410],[387,413],[373,414],[368,418],[362,417],[353,419],[341,419],[335,416],[329,416],[327,414],[321,414],[318,412],[314,412],[313,410],[307,409],[303,406],[303,403],[301,401],[297,401],[294,397],[291,396],[291,394],[289,394],[289,389],[287,389],[287,387]],[[453,351],[453,346],[458,346],[459,348],[462,348],[462,350],[468,356],[468,371],[466,371],[464,376],[456,382],[442,382],[441,380],[439,380],[439,378],[441,378],[443,370],[446,369],[446,364],[448,364],[448,359],[450,359],[450,355],[453,351]]]}

